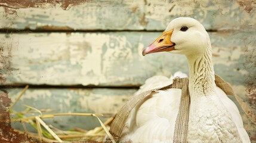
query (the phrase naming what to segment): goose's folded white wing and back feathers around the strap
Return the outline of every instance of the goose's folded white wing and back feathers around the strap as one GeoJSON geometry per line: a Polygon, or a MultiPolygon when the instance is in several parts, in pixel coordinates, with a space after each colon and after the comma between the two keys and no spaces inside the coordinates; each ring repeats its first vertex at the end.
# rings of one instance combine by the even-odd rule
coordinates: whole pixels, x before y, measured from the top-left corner
{"type": "MultiPolygon", "coordinates": [[[[147,79],[135,94],[170,85],[176,76],[187,77],[180,71],[171,78],[153,76],[147,79]]],[[[121,141],[172,142],[180,97],[181,89],[152,92],[132,109],[125,123],[121,141]]]]}

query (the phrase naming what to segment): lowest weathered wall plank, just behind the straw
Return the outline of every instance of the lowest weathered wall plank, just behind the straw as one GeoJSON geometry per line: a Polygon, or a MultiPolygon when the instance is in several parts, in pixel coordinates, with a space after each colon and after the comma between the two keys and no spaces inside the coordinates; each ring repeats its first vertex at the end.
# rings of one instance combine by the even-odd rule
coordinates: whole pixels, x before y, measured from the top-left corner
{"type": "MultiPolygon", "coordinates": [[[[7,89],[12,101],[16,100],[22,89],[7,89]]],[[[54,110],[51,113],[100,113],[101,119],[107,120],[122,107],[125,101],[136,89],[27,89],[13,109],[24,111],[25,105],[42,109],[54,110]]],[[[39,114],[39,113],[36,113],[39,114]]],[[[50,113],[45,113],[50,114],[50,113]]],[[[26,116],[35,116],[27,114],[26,116]]],[[[70,128],[93,129],[100,126],[95,117],[88,116],[60,116],[53,119],[45,119],[49,125],[59,129],[70,128]]],[[[13,126],[22,128],[20,123],[13,126]]],[[[22,130],[22,129],[21,129],[22,130]]]]}

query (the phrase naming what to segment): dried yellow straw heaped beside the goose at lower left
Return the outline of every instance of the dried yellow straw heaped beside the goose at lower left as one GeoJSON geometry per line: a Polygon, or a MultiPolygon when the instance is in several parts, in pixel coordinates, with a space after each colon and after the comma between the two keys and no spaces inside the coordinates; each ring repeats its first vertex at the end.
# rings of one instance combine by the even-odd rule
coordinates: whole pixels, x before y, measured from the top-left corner
{"type": "MultiPolygon", "coordinates": [[[[29,88],[29,86],[27,85],[23,91],[21,91],[20,95],[18,96],[18,98],[16,99],[16,101],[14,101],[14,103],[9,107],[8,110],[11,110],[11,108],[13,108],[13,106],[17,103],[18,100],[20,100],[21,96],[24,94],[24,92],[26,91],[26,89],[29,88]]],[[[24,132],[27,133],[27,135],[29,135],[32,138],[36,138],[38,139],[40,142],[63,142],[61,139],[72,139],[72,138],[84,138],[84,139],[89,139],[90,141],[103,141],[104,137],[106,135],[109,136],[109,138],[111,139],[111,141],[113,143],[116,143],[116,141],[113,139],[113,136],[109,133],[109,130],[107,129],[107,125],[110,125],[110,123],[113,121],[113,117],[111,117],[110,119],[108,119],[106,122],[101,122],[101,120],[98,118],[98,116],[103,116],[103,114],[93,114],[93,113],[55,113],[55,114],[42,114],[42,112],[47,112],[47,111],[52,111],[51,109],[49,110],[38,110],[35,107],[31,107],[29,105],[24,105],[27,107],[26,111],[17,113],[16,111],[13,110],[13,112],[15,114],[17,114],[17,116],[19,117],[18,119],[11,119],[11,122],[19,122],[21,121],[21,124],[24,128],[24,132]],[[34,111],[29,111],[29,109],[33,109],[34,111]],[[23,114],[27,114],[27,113],[39,113],[38,116],[31,116],[31,117],[26,117],[23,114]],[[84,130],[84,129],[79,129],[79,128],[75,128],[75,130],[77,131],[64,131],[64,130],[60,130],[57,128],[54,128],[53,126],[49,127],[42,119],[47,119],[47,118],[53,118],[54,116],[94,116],[98,119],[98,122],[100,122],[99,127],[96,127],[92,130],[84,130]],[[33,120],[36,121],[33,122],[33,120]],[[38,133],[36,135],[36,133],[31,133],[27,131],[26,125],[24,123],[29,123],[30,125],[32,125],[34,128],[36,128],[38,130],[38,133]],[[44,129],[41,128],[41,125],[44,126],[44,129]],[[54,132],[55,131],[55,132],[54,132]],[[44,136],[46,136],[47,138],[45,138],[44,136]],[[54,138],[54,139],[50,139],[50,138],[54,138]]],[[[18,132],[21,132],[20,130],[17,130],[18,132]]],[[[68,142],[67,140],[65,142],[68,142]]]]}

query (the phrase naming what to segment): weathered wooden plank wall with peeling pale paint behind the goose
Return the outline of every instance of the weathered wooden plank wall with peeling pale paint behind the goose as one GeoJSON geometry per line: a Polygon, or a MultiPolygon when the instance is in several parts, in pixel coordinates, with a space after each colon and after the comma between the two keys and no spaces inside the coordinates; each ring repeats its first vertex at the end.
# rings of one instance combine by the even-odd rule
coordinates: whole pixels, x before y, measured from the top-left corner
{"type": "MultiPolygon", "coordinates": [[[[148,77],[171,76],[178,70],[188,73],[182,55],[141,55],[169,21],[186,16],[196,18],[208,30],[215,73],[230,82],[256,113],[255,2],[17,3],[0,2],[2,88],[14,100],[21,88],[11,86],[34,87],[14,107],[17,111],[27,104],[56,112],[93,112],[109,117],[148,77]]],[[[61,129],[98,126],[90,117],[61,117],[48,122],[61,129]]],[[[256,126],[249,119],[245,119],[245,125],[252,142],[256,142],[256,126]]]]}

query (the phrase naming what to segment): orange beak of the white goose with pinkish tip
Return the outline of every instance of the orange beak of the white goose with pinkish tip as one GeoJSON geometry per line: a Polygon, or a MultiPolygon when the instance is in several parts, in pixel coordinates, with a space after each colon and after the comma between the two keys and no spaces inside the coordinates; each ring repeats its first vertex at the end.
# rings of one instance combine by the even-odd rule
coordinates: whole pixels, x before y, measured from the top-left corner
{"type": "Polygon", "coordinates": [[[142,55],[150,54],[153,52],[163,52],[163,51],[172,51],[174,50],[175,43],[171,42],[171,35],[172,35],[173,29],[169,30],[167,32],[163,32],[161,36],[159,36],[156,41],[154,41],[152,44],[147,46],[142,51],[142,55]]]}

